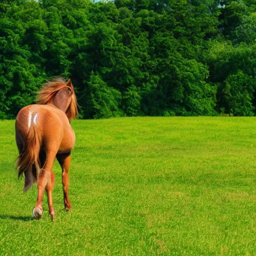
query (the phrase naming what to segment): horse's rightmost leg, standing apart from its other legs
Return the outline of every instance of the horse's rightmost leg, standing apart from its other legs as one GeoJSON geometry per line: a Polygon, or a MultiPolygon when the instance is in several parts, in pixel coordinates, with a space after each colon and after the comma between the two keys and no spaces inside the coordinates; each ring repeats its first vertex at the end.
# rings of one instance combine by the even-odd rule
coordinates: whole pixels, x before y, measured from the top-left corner
{"type": "Polygon", "coordinates": [[[68,178],[68,171],[71,162],[70,152],[57,154],[57,160],[62,168],[62,185],[63,185],[63,195],[64,195],[64,206],[66,210],[71,209],[71,203],[68,198],[68,185],[69,185],[69,178],[68,178]]]}

